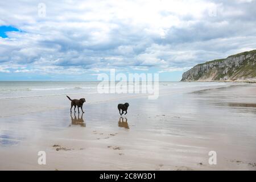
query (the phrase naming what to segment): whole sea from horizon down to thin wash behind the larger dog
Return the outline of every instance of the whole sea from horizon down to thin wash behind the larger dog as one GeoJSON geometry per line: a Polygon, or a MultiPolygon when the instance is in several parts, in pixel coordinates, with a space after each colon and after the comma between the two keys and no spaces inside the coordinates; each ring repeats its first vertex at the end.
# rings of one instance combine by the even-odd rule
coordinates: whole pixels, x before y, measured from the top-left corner
{"type": "MultiPolygon", "coordinates": [[[[134,83],[135,84],[135,83],[134,83]]],[[[159,82],[159,96],[188,93],[207,88],[229,86],[232,83],[218,82],[159,82]]],[[[98,82],[0,82],[0,118],[69,107],[66,95],[86,98],[86,105],[123,98],[147,96],[149,93],[109,93],[97,90],[98,82]]],[[[110,84],[109,84],[110,88],[110,84]]],[[[136,90],[136,89],[135,89],[136,90]]],[[[150,94],[151,95],[151,94],[150,94]]]]}

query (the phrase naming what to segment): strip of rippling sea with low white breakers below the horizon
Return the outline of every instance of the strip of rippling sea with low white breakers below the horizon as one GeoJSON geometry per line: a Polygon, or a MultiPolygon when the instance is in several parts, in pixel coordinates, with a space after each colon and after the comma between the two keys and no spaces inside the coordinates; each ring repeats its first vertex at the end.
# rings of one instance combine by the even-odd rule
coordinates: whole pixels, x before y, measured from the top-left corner
{"type": "MultiPolygon", "coordinates": [[[[118,82],[115,84],[117,83],[118,82]]],[[[0,81],[0,100],[22,97],[59,96],[65,94],[97,94],[98,84],[99,82],[0,81]]],[[[159,82],[159,89],[189,90],[189,88],[199,86],[207,87],[220,85],[229,84],[219,82],[159,82]]]]}

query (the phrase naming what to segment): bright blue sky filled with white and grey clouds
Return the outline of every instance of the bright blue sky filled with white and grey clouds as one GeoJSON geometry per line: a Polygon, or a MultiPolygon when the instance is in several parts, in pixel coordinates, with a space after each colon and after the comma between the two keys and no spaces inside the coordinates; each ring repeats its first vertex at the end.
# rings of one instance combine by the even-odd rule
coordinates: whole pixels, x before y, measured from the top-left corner
{"type": "Polygon", "coordinates": [[[255,0],[0,1],[0,80],[97,81],[256,49],[255,0]]]}

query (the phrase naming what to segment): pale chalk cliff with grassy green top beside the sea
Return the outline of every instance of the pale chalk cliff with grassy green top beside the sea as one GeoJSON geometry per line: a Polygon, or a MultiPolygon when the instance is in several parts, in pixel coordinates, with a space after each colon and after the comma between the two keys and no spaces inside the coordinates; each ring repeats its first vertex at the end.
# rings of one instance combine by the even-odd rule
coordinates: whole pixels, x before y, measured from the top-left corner
{"type": "Polygon", "coordinates": [[[181,79],[181,81],[236,80],[256,80],[256,50],[198,64],[183,73],[181,79]]]}

